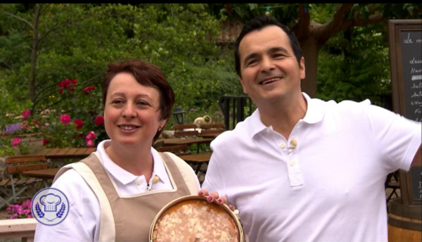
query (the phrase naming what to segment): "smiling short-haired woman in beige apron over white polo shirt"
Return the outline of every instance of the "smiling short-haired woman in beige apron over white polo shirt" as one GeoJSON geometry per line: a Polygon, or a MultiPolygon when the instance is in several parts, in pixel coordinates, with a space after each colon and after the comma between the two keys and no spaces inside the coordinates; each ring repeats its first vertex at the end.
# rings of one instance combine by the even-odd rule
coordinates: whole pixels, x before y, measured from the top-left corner
{"type": "Polygon", "coordinates": [[[60,169],[52,187],[68,198],[69,214],[55,226],[38,223],[35,241],[148,241],[164,205],[198,194],[192,168],[152,147],[174,106],[173,90],[158,67],[140,60],[110,63],[103,106],[110,139],[60,169]]]}

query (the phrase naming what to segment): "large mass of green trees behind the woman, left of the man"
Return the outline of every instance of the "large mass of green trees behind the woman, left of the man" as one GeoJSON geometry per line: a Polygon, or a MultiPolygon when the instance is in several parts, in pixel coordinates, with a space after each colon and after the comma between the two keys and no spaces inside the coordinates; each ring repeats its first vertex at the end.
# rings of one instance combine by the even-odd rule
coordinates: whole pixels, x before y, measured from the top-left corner
{"type": "Polygon", "coordinates": [[[16,117],[31,110],[27,122],[41,124],[47,146],[87,146],[84,136],[90,131],[98,135],[96,143],[106,139],[103,127],[94,124],[103,113],[102,76],[107,63],[127,58],[158,65],[172,84],[176,105],[194,110],[192,122],[195,115],[218,116],[222,94],[241,93],[232,50],[217,46],[220,23],[205,4],[41,4],[36,59],[31,56],[34,6],[0,4],[0,20],[7,23],[0,27],[1,130],[22,122],[16,117]],[[31,60],[36,60],[33,100],[28,98],[31,60]],[[59,87],[65,79],[77,80],[72,91],[59,87]],[[86,87],[95,89],[85,95],[86,87]],[[63,125],[64,114],[84,126],[63,125]]]}

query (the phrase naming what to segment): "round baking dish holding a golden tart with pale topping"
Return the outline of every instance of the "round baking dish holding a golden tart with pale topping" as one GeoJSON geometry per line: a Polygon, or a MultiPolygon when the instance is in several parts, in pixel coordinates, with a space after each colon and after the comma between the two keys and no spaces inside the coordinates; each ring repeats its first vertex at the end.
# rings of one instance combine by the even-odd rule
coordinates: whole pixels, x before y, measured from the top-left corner
{"type": "Polygon", "coordinates": [[[150,242],[243,242],[237,215],[226,204],[208,203],[203,196],[172,200],[155,216],[150,242]]]}

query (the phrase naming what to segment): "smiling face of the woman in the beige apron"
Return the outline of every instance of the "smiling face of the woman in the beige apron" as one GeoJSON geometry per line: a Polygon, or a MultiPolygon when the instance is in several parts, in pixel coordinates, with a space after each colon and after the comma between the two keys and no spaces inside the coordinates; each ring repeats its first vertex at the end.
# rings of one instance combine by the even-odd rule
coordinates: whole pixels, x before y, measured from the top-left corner
{"type": "Polygon", "coordinates": [[[160,93],[132,74],[120,72],[111,79],[104,108],[104,126],[112,146],[151,146],[160,120],[160,93]]]}

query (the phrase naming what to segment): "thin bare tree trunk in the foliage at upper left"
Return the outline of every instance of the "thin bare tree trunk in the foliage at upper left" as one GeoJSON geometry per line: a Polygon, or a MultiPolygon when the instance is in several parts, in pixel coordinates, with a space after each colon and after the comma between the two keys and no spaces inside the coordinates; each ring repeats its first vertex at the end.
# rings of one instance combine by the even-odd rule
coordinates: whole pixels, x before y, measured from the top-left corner
{"type": "Polygon", "coordinates": [[[39,21],[39,4],[35,4],[35,13],[34,13],[34,28],[32,35],[32,49],[31,49],[31,69],[30,69],[30,99],[34,102],[35,98],[35,69],[37,68],[37,49],[38,49],[38,21],[39,21]]]}

